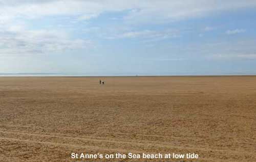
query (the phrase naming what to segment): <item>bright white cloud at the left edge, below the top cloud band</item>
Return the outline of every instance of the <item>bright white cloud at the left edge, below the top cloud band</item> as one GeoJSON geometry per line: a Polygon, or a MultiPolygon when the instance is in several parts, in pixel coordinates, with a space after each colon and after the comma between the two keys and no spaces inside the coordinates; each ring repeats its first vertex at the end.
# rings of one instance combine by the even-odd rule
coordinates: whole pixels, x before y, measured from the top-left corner
{"type": "Polygon", "coordinates": [[[27,55],[61,52],[70,49],[82,49],[91,46],[91,41],[70,39],[60,31],[25,30],[3,28],[0,32],[0,55],[27,55]]]}

